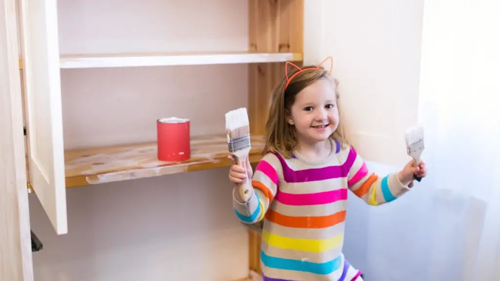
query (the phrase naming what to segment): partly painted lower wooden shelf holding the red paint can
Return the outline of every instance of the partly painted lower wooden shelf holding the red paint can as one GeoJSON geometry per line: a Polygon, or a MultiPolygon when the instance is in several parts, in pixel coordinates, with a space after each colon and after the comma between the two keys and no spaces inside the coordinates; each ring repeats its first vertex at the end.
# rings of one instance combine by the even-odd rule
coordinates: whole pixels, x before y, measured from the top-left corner
{"type": "MultiPolygon", "coordinates": [[[[262,136],[252,136],[250,162],[260,160],[262,136]]],[[[183,162],[157,159],[156,142],[66,150],[66,187],[143,178],[229,166],[225,135],[191,137],[191,158],[183,162]]]]}

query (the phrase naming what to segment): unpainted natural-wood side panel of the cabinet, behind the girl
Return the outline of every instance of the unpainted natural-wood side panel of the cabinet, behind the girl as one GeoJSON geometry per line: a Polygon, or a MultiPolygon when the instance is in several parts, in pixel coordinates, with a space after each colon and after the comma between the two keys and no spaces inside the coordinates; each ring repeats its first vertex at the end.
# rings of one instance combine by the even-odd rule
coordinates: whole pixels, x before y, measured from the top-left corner
{"type": "MultiPolygon", "coordinates": [[[[303,0],[248,0],[249,49],[302,53],[303,8],[303,0]]],[[[283,79],[285,64],[255,63],[248,68],[250,130],[252,134],[265,134],[271,92],[283,79]]],[[[260,233],[249,231],[250,269],[260,273],[260,233]]]]}

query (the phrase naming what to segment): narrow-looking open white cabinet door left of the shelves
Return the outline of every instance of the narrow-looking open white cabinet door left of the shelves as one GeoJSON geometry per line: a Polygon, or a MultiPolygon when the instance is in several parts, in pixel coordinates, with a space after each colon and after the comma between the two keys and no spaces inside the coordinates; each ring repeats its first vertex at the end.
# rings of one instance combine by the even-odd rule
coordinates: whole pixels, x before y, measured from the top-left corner
{"type": "Polygon", "coordinates": [[[56,0],[20,0],[29,182],[57,234],[67,232],[56,0]]]}

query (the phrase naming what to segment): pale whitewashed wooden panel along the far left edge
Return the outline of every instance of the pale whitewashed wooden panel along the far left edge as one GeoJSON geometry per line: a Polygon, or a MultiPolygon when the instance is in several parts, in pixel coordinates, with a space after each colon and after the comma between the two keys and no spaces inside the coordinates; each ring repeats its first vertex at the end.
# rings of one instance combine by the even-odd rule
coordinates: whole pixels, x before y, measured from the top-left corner
{"type": "Polygon", "coordinates": [[[17,10],[0,0],[0,280],[33,280],[17,10]]]}

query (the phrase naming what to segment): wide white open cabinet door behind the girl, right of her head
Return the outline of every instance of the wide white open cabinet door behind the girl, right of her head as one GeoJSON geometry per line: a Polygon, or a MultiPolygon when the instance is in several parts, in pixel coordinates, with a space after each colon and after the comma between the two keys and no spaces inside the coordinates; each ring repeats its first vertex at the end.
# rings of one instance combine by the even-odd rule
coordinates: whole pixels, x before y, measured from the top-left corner
{"type": "Polygon", "coordinates": [[[305,0],[304,62],[333,56],[358,152],[401,166],[417,122],[423,0],[305,0]]]}

